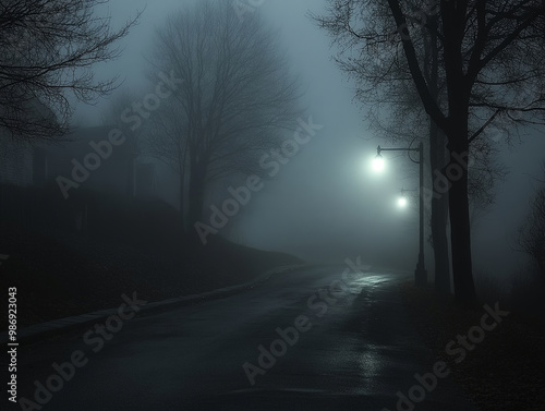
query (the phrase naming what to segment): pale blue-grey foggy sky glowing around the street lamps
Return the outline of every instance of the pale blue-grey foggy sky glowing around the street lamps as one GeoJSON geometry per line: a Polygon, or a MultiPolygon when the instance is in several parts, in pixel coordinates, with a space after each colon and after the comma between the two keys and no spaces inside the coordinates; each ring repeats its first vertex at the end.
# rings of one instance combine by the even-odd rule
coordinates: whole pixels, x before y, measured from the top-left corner
{"type": "MultiPolygon", "coordinates": [[[[230,1],[230,0],[229,0],[230,1]]],[[[120,75],[123,86],[143,89],[146,55],[150,55],[155,27],[166,16],[192,1],[158,0],[147,4],[140,25],[124,43],[123,56],[97,67],[98,77],[120,75]]],[[[404,156],[387,155],[388,169],[373,174],[370,161],[378,144],[362,120],[365,108],[352,102],[354,86],[330,57],[330,39],[307,17],[319,13],[325,0],[266,0],[256,12],[280,29],[295,73],[307,88],[304,104],[315,123],[323,124],[312,141],[281,167],[272,181],[256,193],[244,213],[230,223],[229,235],[243,244],[294,253],[306,258],[340,263],[361,255],[363,259],[391,261],[413,269],[417,252],[417,204],[399,209],[399,189],[413,190],[417,167],[404,156]]],[[[113,26],[146,7],[144,0],[110,0],[113,26]]],[[[104,101],[107,104],[107,101],[104,101]]],[[[104,105],[80,105],[74,119],[83,124],[98,121],[104,105]]],[[[293,119],[294,124],[298,119],[293,119]]],[[[305,119],[306,120],[306,119],[305,119]]],[[[505,183],[498,183],[495,208],[474,223],[475,271],[494,276],[513,273],[522,255],[511,252],[518,226],[523,221],[529,196],[540,178],[545,153],[543,132],[531,132],[514,152],[505,147],[501,161],[509,167],[505,183]]],[[[257,160],[257,159],[256,159],[257,160]]],[[[227,198],[226,186],[226,198],[227,198]]],[[[426,233],[426,237],[428,233],[426,233]]],[[[426,250],[431,261],[431,250],[426,250]]],[[[377,263],[378,264],[378,263],[377,263]]]]}

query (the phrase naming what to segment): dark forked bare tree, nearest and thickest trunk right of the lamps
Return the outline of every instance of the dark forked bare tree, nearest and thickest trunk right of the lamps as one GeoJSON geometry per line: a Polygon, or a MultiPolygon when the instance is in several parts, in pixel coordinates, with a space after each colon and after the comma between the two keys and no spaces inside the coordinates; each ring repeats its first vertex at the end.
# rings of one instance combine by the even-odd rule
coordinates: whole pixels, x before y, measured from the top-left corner
{"type": "MultiPolygon", "coordinates": [[[[423,17],[422,10],[410,9],[409,3],[401,5],[398,0],[331,3],[331,14],[343,15],[351,24],[347,28],[330,19],[325,20],[324,26],[344,44],[361,45],[362,49],[371,45],[396,56],[401,50],[408,78],[431,120],[446,135],[449,160],[444,174],[449,186],[455,294],[459,301],[472,302],[475,291],[469,209],[470,144],[483,138],[485,130],[501,114],[516,124],[544,123],[543,4],[529,0],[443,0],[427,8],[438,16],[434,25],[423,17]],[[376,15],[389,16],[390,24],[380,26],[376,15]],[[426,78],[422,27],[439,41],[438,70],[445,78],[445,104],[434,96],[426,78]],[[355,35],[347,39],[347,31],[355,35]]],[[[380,83],[388,73],[383,70],[382,76],[376,75],[373,81],[380,83]]]]}

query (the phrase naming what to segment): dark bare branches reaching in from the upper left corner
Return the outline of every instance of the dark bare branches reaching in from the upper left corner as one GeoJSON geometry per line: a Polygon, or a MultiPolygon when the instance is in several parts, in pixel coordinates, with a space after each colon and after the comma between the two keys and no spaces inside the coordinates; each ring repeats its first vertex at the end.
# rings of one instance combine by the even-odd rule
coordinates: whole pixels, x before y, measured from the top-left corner
{"type": "Polygon", "coordinates": [[[0,2],[0,128],[26,142],[55,140],[69,129],[68,93],[94,102],[116,87],[95,81],[93,64],[119,56],[119,31],[95,15],[107,0],[8,0],[0,2]]]}

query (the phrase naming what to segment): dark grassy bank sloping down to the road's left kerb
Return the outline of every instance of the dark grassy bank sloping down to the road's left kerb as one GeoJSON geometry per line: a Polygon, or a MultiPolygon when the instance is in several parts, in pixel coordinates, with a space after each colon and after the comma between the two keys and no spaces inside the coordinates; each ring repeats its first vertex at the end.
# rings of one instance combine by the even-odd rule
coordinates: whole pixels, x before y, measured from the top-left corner
{"type": "Polygon", "coordinates": [[[160,301],[247,282],[272,267],[301,263],[220,239],[202,247],[173,238],[148,237],[142,245],[47,235],[1,223],[0,231],[1,250],[10,255],[0,267],[0,306],[8,306],[8,289],[16,287],[20,327],[116,307],[123,293],[160,301]]]}

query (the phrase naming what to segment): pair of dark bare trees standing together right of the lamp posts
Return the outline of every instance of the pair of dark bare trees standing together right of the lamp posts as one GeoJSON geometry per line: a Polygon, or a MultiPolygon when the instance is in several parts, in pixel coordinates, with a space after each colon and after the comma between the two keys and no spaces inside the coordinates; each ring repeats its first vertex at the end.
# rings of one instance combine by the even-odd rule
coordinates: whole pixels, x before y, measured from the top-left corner
{"type": "Polygon", "coordinates": [[[375,129],[428,147],[435,285],[450,289],[449,220],[461,302],[476,299],[470,202],[491,204],[493,182],[505,174],[495,159],[501,142],[489,131],[545,121],[544,16],[543,3],[528,0],[329,0],[325,15],[312,15],[339,46],[336,60],[356,81],[356,98],[374,106],[375,129]]]}

